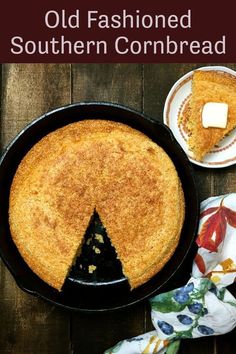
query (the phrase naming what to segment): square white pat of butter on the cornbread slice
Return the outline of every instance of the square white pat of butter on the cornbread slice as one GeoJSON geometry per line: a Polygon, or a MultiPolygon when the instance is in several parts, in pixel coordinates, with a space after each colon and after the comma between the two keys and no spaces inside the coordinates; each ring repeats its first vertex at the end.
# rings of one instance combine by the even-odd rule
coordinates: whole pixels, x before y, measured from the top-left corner
{"type": "Polygon", "coordinates": [[[202,109],[202,125],[204,128],[223,128],[227,126],[227,103],[208,102],[202,109]]]}

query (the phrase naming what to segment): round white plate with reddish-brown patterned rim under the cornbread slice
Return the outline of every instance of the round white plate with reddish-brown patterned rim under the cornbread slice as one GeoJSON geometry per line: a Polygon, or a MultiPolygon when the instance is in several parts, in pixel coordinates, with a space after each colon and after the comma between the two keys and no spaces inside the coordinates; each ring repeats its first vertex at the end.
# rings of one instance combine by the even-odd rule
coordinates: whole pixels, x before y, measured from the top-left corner
{"type": "MultiPolygon", "coordinates": [[[[197,70],[217,70],[230,73],[236,77],[236,72],[224,66],[204,66],[197,70]]],[[[236,163],[236,129],[225,137],[210,153],[208,153],[202,162],[193,158],[187,145],[187,135],[181,125],[178,124],[178,117],[191,95],[191,85],[193,72],[182,76],[171,88],[164,106],[164,123],[172,130],[175,138],[182,146],[189,157],[189,160],[196,165],[208,168],[221,168],[236,163]]]]}

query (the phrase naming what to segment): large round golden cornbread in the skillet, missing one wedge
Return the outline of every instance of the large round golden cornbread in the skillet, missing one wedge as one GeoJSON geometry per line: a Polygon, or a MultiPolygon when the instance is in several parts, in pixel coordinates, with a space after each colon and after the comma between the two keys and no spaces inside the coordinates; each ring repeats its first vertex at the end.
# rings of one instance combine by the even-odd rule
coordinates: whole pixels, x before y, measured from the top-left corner
{"type": "Polygon", "coordinates": [[[61,290],[96,210],[135,288],[174,253],[184,207],[162,148],[124,124],[84,120],[50,133],[21,161],[9,222],[29,267],[61,290]]]}

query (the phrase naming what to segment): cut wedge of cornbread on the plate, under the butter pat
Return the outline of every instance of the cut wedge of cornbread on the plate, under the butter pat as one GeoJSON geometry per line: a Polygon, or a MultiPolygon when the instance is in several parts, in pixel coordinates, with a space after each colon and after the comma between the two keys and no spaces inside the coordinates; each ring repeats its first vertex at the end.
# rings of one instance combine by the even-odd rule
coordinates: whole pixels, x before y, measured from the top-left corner
{"type": "Polygon", "coordinates": [[[201,161],[236,127],[236,77],[220,71],[195,71],[187,121],[188,145],[194,157],[201,161]],[[202,109],[208,102],[228,104],[228,121],[225,129],[203,127],[202,109]]]}

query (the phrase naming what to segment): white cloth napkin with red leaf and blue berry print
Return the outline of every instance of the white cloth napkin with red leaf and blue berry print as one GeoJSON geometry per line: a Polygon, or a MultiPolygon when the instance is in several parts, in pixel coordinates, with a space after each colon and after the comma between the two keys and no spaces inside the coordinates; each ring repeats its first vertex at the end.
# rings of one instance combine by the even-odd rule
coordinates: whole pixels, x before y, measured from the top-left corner
{"type": "Polygon", "coordinates": [[[236,326],[236,193],[201,203],[198,252],[181,288],[150,300],[155,330],[119,342],[104,354],[175,354],[180,339],[219,335],[236,326]]]}

